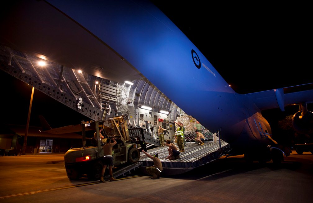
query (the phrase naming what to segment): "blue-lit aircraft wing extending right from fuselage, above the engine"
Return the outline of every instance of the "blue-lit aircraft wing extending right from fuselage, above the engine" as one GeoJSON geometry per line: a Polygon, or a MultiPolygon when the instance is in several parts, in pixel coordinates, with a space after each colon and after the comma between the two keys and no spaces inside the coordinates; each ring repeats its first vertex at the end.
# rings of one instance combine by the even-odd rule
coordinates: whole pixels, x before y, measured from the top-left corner
{"type": "Polygon", "coordinates": [[[246,94],[260,110],[313,102],[313,83],[246,94]]]}

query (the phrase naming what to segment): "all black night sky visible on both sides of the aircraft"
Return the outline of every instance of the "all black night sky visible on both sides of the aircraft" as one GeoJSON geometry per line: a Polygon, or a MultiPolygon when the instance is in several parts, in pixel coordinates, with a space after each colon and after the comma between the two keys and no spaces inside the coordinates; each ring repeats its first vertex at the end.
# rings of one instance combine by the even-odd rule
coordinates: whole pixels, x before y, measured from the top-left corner
{"type": "MultiPolygon", "coordinates": [[[[313,83],[311,56],[307,51],[312,47],[308,5],[152,2],[185,33],[236,92],[245,94],[313,83]]],[[[4,79],[0,82],[1,122],[26,125],[32,88],[3,71],[0,74],[4,79]]],[[[292,107],[292,111],[295,113],[297,108],[292,107]]],[[[39,125],[38,114],[44,115],[51,127],[87,120],[35,89],[30,126],[39,125]]],[[[264,114],[273,115],[269,120],[275,124],[290,113],[274,109],[264,114]]]]}

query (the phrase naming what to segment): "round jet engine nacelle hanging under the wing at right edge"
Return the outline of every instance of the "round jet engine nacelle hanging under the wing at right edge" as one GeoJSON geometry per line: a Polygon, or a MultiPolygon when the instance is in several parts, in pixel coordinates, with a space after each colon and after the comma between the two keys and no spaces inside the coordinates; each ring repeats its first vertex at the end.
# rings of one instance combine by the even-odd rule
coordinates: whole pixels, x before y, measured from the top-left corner
{"type": "Polygon", "coordinates": [[[306,111],[302,115],[302,111],[298,111],[292,117],[292,125],[298,133],[311,134],[313,132],[313,112],[306,111]]]}

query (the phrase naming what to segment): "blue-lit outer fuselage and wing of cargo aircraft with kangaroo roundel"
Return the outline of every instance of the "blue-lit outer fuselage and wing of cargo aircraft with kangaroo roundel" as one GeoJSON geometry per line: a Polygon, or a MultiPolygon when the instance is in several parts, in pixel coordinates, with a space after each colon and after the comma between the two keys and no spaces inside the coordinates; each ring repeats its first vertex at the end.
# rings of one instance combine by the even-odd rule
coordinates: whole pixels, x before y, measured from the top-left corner
{"type": "Polygon", "coordinates": [[[229,155],[273,162],[290,155],[290,148],[273,139],[264,109],[298,104],[295,129],[313,131],[307,109],[313,83],[236,93],[150,1],[27,0],[2,8],[2,45],[117,82],[145,77],[186,114],[218,132],[231,147],[229,155]]]}

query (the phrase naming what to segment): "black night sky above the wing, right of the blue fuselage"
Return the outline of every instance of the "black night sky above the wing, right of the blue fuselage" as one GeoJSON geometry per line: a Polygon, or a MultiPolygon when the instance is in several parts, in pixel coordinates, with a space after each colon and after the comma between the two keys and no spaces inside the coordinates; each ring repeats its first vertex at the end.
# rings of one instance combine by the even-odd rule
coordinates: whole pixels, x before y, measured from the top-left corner
{"type": "Polygon", "coordinates": [[[308,4],[152,2],[238,93],[313,82],[308,4]]]}

